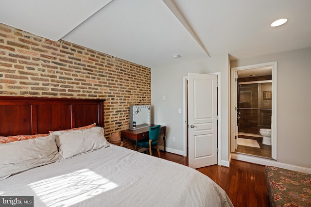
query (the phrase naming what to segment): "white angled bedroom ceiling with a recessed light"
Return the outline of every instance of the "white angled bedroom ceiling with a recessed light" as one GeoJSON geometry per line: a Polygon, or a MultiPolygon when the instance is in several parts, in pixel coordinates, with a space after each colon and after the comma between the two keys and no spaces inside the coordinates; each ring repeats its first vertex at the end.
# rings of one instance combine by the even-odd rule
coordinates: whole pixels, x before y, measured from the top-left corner
{"type": "Polygon", "coordinates": [[[231,59],[242,59],[311,47],[311,0],[0,3],[1,23],[151,68],[208,59],[209,55],[229,54],[231,59]],[[270,27],[278,18],[288,18],[288,22],[270,27]],[[173,54],[181,57],[174,59],[173,54]]]}

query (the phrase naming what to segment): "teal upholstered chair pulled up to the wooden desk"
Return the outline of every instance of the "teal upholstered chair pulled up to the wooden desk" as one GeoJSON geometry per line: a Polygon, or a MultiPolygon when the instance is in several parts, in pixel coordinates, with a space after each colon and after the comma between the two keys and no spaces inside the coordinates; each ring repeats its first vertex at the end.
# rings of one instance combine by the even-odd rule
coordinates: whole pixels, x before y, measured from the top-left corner
{"type": "Polygon", "coordinates": [[[149,139],[144,139],[144,140],[138,141],[138,146],[146,147],[147,152],[148,152],[148,148],[149,148],[150,155],[152,155],[151,148],[155,146],[156,150],[157,150],[157,154],[159,155],[159,158],[161,157],[161,155],[160,155],[159,148],[157,147],[157,138],[160,135],[160,129],[161,129],[161,125],[156,125],[155,127],[150,127],[149,128],[149,139]]]}

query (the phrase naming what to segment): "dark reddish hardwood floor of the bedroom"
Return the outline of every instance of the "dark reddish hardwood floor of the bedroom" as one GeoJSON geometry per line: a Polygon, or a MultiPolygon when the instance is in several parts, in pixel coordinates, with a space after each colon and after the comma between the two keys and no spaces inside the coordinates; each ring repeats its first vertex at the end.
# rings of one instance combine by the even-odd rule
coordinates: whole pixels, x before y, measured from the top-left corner
{"type": "MultiPolygon", "coordinates": [[[[157,152],[153,152],[157,157],[157,152]]],[[[188,166],[188,158],[161,151],[161,158],[188,166]]],[[[212,165],[197,169],[225,190],[235,207],[270,207],[263,165],[232,159],[230,168],[212,165]]]]}

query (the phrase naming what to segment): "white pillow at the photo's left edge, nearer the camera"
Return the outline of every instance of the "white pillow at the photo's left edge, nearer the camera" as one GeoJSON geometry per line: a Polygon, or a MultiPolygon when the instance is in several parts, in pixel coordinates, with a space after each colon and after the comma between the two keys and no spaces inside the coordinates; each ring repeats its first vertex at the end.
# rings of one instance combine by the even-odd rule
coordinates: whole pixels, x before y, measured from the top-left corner
{"type": "Polygon", "coordinates": [[[0,143],[0,180],[59,160],[55,135],[0,143]]]}

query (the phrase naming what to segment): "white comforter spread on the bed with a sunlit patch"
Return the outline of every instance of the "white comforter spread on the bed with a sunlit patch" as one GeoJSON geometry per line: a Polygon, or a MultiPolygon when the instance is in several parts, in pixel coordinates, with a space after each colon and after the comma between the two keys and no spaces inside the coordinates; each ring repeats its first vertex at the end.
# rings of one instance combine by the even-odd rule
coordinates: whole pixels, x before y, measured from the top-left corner
{"type": "Polygon", "coordinates": [[[0,195],[33,195],[35,207],[233,206],[206,175],[115,145],[8,177],[0,195]]]}

